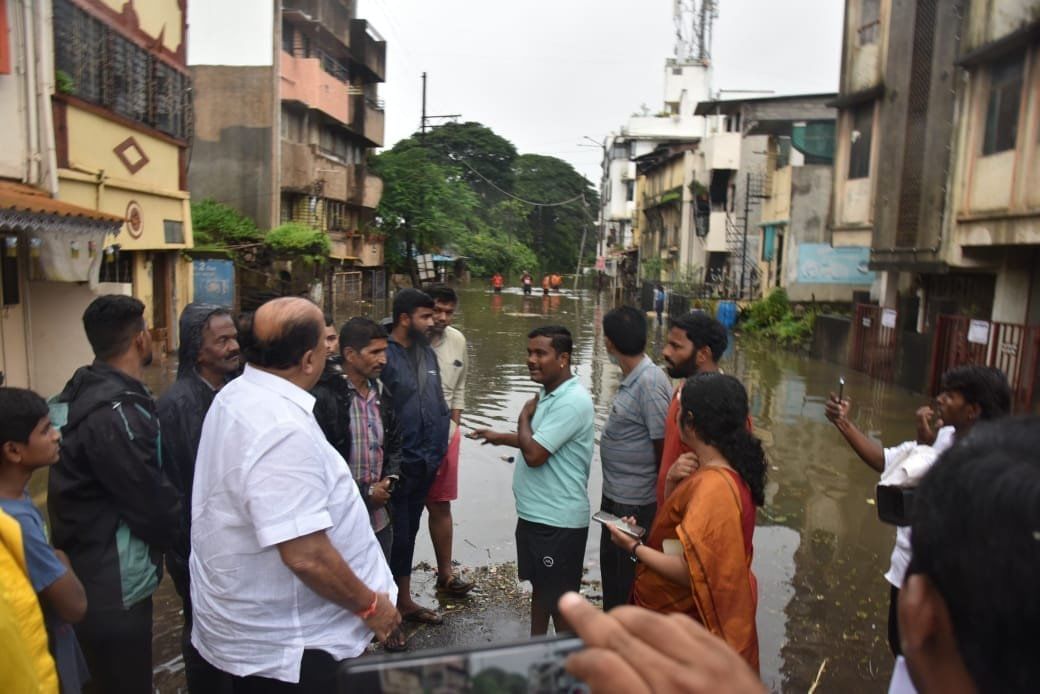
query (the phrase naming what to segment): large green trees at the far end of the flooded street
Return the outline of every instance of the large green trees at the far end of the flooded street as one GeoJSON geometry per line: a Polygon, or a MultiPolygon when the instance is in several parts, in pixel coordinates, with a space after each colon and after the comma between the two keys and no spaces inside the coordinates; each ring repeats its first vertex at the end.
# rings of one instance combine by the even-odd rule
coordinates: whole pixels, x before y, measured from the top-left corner
{"type": "Polygon", "coordinates": [[[589,181],[555,157],[517,156],[509,140],[478,123],[447,124],[424,139],[401,140],[375,157],[372,169],[384,181],[376,227],[387,236],[387,264],[397,272],[410,267],[411,251],[448,248],[465,255],[476,276],[573,272],[587,228],[586,261],[595,256],[586,205],[599,203],[589,181]],[[578,200],[541,207],[516,198],[578,200]]]}

